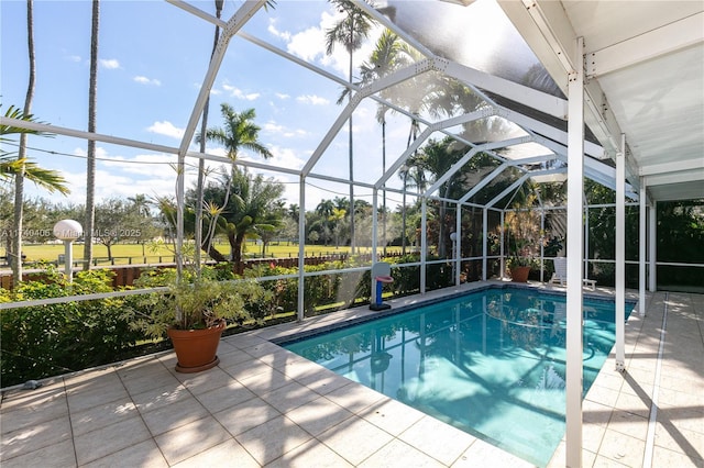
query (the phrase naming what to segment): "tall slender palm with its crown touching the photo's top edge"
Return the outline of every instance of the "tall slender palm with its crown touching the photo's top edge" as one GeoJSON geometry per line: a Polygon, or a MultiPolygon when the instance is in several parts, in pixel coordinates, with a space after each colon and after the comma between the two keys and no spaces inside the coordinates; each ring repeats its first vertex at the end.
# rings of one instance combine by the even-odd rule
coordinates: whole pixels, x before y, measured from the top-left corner
{"type": "MultiPolygon", "coordinates": [[[[328,55],[332,54],[336,44],[343,45],[350,54],[350,85],[352,83],[352,58],[354,51],[358,51],[362,46],[364,38],[369,36],[372,29],[373,20],[359,7],[354,4],[352,0],[330,0],[330,2],[338,8],[342,13],[345,13],[339,22],[337,22],[331,29],[326,31],[326,52],[328,55]]],[[[350,99],[352,97],[350,96],[350,99]]],[[[353,151],[353,137],[352,137],[352,115],[349,120],[349,148],[350,148],[350,205],[354,205],[354,151],[353,151]]],[[[350,238],[351,253],[354,254],[354,213],[350,212],[350,238]]]]}

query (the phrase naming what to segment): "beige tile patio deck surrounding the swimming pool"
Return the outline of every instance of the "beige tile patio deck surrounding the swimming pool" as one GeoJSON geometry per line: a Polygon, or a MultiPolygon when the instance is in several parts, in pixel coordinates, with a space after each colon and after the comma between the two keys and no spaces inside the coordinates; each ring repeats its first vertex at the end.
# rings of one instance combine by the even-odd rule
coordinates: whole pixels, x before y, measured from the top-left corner
{"type": "MultiPolygon", "coordinates": [[[[6,391],[0,465],[531,466],[270,342],[369,313],[226,337],[220,365],[197,375],[164,353],[6,391]]],[[[658,292],[631,313],[626,371],[612,353],[583,403],[583,466],[704,467],[703,321],[704,294],[658,292]]],[[[550,466],[563,465],[561,444],[550,466]]]]}

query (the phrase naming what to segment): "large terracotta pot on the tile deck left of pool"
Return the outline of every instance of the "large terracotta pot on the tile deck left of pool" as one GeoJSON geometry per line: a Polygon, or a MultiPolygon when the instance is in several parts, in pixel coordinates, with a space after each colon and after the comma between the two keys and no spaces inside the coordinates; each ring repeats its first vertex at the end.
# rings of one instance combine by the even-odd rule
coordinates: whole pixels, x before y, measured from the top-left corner
{"type": "Polygon", "coordinates": [[[200,372],[220,363],[217,356],[220,336],[226,327],[224,320],[217,326],[204,330],[168,328],[176,352],[177,372],[200,372]]]}

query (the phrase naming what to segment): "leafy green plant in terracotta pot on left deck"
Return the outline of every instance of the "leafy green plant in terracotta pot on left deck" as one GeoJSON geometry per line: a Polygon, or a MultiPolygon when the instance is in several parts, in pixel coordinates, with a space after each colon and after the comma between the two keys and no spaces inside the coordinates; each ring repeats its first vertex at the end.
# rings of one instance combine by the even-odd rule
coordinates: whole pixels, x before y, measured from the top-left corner
{"type": "Polygon", "coordinates": [[[271,303],[270,292],[254,280],[221,281],[206,275],[176,279],[175,272],[158,271],[136,281],[138,286],[164,283],[164,290],[135,297],[125,310],[130,324],[153,338],[168,336],[176,353],[178,372],[198,372],[220,363],[220,337],[228,323],[261,322],[250,312],[252,304],[271,303]]]}

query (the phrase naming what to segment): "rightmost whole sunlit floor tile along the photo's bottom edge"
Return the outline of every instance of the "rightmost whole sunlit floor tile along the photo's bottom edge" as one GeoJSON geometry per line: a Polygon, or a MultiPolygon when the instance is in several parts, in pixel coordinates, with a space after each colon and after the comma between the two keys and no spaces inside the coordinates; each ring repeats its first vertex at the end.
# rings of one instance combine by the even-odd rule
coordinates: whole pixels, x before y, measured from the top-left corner
{"type": "Polygon", "coordinates": [[[420,419],[398,438],[446,465],[454,463],[476,439],[430,416],[420,419]],[[432,437],[428,434],[432,434],[432,437]],[[442,441],[442,444],[438,444],[438,441],[442,441]]]}

